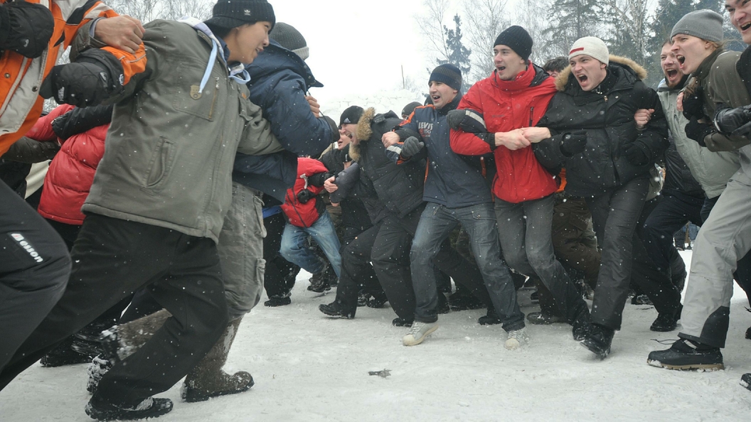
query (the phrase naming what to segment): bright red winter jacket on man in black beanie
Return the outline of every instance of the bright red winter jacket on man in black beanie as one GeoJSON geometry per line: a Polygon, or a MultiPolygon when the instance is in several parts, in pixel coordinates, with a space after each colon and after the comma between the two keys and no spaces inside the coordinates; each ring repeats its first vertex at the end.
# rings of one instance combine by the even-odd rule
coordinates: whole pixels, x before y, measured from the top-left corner
{"type": "MultiPolygon", "coordinates": [[[[553,78],[530,62],[514,80],[500,80],[493,71],[469,89],[457,108],[480,112],[490,133],[508,132],[534,126],[555,93],[553,78]]],[[[491,152],[490,145],[480,137],[461,130],[451,131],[451,149],[463,155],[491,152]]],[[[558,188],[558,182],[538,163],[532,148],[511,151],[500,146],[493,152],[498,170],[493,179],[496,197],[520,203],[546,197],[558,188]]]]}

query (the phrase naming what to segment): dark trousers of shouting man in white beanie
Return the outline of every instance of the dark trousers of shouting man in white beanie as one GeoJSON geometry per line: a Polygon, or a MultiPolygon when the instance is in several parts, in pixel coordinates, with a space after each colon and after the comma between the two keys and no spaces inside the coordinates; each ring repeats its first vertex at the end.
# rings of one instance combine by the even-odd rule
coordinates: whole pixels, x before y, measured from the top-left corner
{"type": "Polygon", "coordinates": [[[602,250],[592,321],[611,330],[620,330],[629,297],[634,231],[648,189],[649,180],[643,177],[587,198],[602,250]]]}

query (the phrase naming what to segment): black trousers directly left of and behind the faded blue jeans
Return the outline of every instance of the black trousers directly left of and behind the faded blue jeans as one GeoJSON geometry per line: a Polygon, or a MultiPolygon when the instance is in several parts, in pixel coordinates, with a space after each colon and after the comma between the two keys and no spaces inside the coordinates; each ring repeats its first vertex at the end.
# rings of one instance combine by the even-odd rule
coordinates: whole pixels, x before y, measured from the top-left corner
{"type": "MultiPolygon", "coordinates": [[[[391,303],[391,308],[400,318],[408,321],[415,317],[415,291],[412,289],[409,251],[424,208],[424,205],[418,206],[404,217],[386,217],[375,237],[370,255],[373,269],[391,303]]],[[[451,276],[454,282],[468,288],[472,294],[486,298],[487,302],[484,303],[490,303],[490,295],[487,293],[480,270],[452,249],[448,239],[442,244],[441,250],[433,259],[433,264],[451,276]]]]}

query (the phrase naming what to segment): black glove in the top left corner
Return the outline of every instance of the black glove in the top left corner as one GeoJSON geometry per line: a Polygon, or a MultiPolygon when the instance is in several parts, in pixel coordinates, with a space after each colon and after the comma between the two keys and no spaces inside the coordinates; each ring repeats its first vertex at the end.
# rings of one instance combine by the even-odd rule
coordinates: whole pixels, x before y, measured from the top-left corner
{"type": "Polygon", "coordinates": [[[37,3],[0,5],[0,50],[13,50],[36,59],[50,44],[55,20],[50,9],[37,3]]]}

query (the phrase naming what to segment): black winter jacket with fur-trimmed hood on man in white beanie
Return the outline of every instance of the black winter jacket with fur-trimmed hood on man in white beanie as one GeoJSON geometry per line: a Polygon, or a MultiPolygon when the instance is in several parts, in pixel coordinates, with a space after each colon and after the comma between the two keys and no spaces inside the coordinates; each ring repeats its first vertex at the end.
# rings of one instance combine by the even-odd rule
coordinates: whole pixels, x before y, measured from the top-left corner
{"type": "Polygon", "coordinates": [[[650,168],[668,147],[668,125],[657,93],[641,82],[647,75],[644,68],[632,60],[610,56],[608,86],[602,93],[598,89],[583,91],[570,75],[571,68],[566,68],[556,78],[559,92],[538,122],[553,134],[533,144],[540,163],[548,169],[566,167],[566,192],[583,197],[649,176],[650,168]],[[634,120],[641,108],[655,110],[644,131],[638,131],[634,120]],[[587,146],[584,152],[566,157],[560,151],[562,137],[578,130],[587,131],[587,146]],[[623,149],[629,143],[641,143],[648,154],[647,164],[638,166],[626,159],[623,149]]]}

